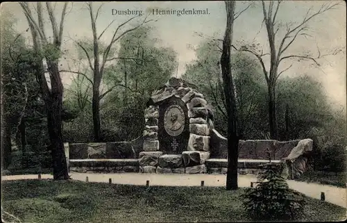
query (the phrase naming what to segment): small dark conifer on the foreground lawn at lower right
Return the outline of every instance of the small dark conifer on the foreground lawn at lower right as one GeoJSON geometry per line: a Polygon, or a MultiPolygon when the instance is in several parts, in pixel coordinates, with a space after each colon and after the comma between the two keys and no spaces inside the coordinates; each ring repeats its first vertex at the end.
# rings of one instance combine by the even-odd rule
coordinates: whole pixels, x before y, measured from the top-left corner
{"type": "Polygon", "coordinates": [[[253,220],[295,220],[303,215],[303,195],[289,189],[280,176],[284,164],[268,163],[258,176],[256,188],[247,188],[242,195],[244,207],[253,220]]]}

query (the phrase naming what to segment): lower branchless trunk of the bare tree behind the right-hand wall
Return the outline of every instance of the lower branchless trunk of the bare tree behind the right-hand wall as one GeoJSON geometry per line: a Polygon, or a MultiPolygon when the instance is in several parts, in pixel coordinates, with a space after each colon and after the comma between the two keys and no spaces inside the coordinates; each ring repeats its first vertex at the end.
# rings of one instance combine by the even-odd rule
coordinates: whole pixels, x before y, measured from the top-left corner
{"type": "Polygon", "coordinates": [[[271,140],[278,139],[277,120],[276,120],[276,87],[274,83],[268,85],[269,94],[269,125],[271,140]]]}

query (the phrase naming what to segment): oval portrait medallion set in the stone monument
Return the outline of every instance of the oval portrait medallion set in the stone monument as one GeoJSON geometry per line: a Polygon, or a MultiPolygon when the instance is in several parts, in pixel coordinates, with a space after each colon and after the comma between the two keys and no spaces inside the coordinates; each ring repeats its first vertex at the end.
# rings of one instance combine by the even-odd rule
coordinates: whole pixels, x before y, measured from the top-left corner
{"type": "Polygon", "coordinates": [[[164,113],[164,129],[171,136],[178,136],[185,129],[185,112],[178,105],[172,105],[164,113]]]}

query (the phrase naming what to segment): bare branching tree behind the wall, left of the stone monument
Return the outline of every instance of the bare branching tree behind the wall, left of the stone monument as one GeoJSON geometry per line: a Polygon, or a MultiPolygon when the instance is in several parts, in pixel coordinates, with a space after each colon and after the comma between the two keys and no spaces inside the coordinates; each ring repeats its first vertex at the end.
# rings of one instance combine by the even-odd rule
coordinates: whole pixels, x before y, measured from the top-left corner
{"type": "MultiPolygon", "coordinates": [[[[133,28],[129,28],[126,31],[124,31],[123,33],[119,34],[118,33],[119,30],[123,26],[125,26],[126,24],[128,24],[128,22],[132,21],[133,19],[135,19],[138,16],[131,17],[130,19],[126,20],[126,22],[120,24],[116,28],[115,32],[112,35],[112,39],[110,40],[110,43],[107,45],[107,47],[105,47],[105,49],[103,51],[101,51],[99,40],[103,36],[105,31],[113,24],[113,22],[115,22],[115,20],[110,22],[110,24],[108,24],[108,26],[106,26],[106,28],[98,35],[98,32],[96,30],[96,20],[99,16],[99,12],[100,12],[102,6],[103,6],[103,4],[101,4],[99,6],[99,8],[96,10],[96,13],[94,13],[94,8],[92,6],[92,3],[87,3],[87,9],[89,10],[89,13],[90,13],[90,20],[91,20],[91,24],[92,24],[92,34],[93,34],[93,47],[92,47],[93,52],[92,52],[92,55],[90,55],[90,52],[83,46],[83,44],[81,44],[81,42],[76,42],[78,44],[78,46],[81,47],[81,49],[85,53],[85,56],[87,57],[88,64],[90,66],[90,69],[92,69],[92,73],[93,73],[93,79],[89,79],[89,81],[92,83],[92,87],[93,87],[93,89],[92,89],[93,90],[92,113],[93,113],[93,124],[94,124],[94,140],[96,142],[99,142],[101,140],[100,100],[103,97],[105,97],[105,95],[108,94],[108,92],[111,92],[114,88],[114,87],[112,87],[109,90],[107,90],[106,92],[104,92],[103,94],[100,94],[100,85],[101,85],[101,81],[103,79],[103,73],[105,71],[106,63],[108,63],[109,61],[112,61],[112,60],[123,59],[123,58],[117,58],[117,57],[110,58],[110,56],[111,56],[110,50],[111,50],[112,46],[120,38],[122,38],[124,35],[126,35],[126,33],[134,31],[135,29],[139,28],[143,24],[146,24],[147,22],[151,21],[151,19],[147,20],[147,17],[145,17],[145,19],[137,26],[135,26],[133,28]],[[119,35],[117,35],[117,34],[119,34],[119,35]],[[102,57],[102,58],[100,58],[100,57],[102,57]],[[94,63],[92,62],[93,58],[94,58],[94,63]]],[[[124,59],[126,59],[126,58],[124,58],[124,59]]]]}

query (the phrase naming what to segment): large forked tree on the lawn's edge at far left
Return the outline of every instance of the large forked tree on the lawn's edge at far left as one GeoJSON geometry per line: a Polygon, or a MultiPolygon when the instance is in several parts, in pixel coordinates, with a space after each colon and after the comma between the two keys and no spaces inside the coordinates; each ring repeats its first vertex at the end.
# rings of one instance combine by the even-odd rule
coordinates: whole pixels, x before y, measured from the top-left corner
{"type": "Polygon", "coordinates": [[[49,22],[53,31],[53,40],[49,42],[46,37],[44,28],[44,16],[42,13],[42,2],[37,2],[37,20],[34,19],[33,13],[27,2],[20,2],[24,15],[28,21],[28,26],[33,38],[33,49],[35,51],[35,66],[37,69],[37,81],[40,84],[42,97],[47,112],[47,127],[49,139],[51,141],[50,149],[53,159],[53,179],[69,179],[67,172],[67,162],[62,140],[62,80],[58,70],[58,61],[60,56],[60,47],[62,43],[62,31],[64,28],[65,15],[67,14],[67,3],[62,7],[60,24],[57,23],[56,16],[51,3],[46,2],[46,12],[49,15],[49,22]],[[44,59],[46,60],[47,72],[51,88],[47,83],[44,69],[44,59]]]}

